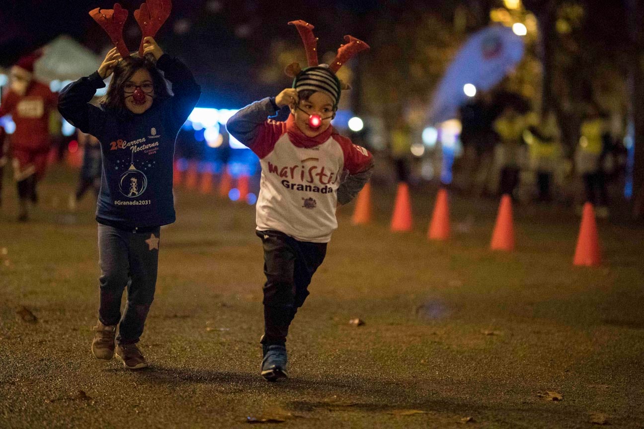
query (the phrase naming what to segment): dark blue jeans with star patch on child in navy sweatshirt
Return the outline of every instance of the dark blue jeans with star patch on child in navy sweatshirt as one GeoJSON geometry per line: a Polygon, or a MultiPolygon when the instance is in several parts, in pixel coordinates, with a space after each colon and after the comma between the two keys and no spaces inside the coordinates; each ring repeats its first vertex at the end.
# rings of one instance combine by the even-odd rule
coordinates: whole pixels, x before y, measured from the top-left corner
{"type": "Polygon", "coordinates": [[[160,228],[133,232],[99,223],[100,308],[104,325],[117,325],[117,342],[133,344],[143,333],[155,297],[160,228]],[[128,302],[121,318],[123,290],[128,302]]]}

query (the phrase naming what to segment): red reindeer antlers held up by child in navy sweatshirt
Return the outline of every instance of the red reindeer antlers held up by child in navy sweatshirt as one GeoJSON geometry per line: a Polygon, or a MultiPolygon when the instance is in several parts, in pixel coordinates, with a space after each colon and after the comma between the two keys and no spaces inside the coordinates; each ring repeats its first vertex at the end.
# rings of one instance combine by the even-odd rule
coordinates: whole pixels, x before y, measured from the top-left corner
{"type": "MultiPolygon", "coordinates": [[[[143,40],[146,37],[155,37],[156,32],[170,16],[171,9],[170,0],[146,0],[140,8],[134,11],[134,18],[143,33],[138,47],[140,57],[143,57],[143,40]]],[[[123,27],[128,19],[128,10],[115,3],[113,9],[95,8],[91,10],[90,16],[108,33],[109,39],[117,47],[121,57],[129,57],[128,46],[123,41],[123,27]]]]}

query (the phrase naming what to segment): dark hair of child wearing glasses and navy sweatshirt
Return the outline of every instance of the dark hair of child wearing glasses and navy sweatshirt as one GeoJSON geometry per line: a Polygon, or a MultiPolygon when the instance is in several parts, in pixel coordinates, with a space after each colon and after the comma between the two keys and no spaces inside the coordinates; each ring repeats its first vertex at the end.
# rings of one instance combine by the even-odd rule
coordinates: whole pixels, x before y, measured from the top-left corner
{"type": "Polygon", "coordinates": [[[120,115],[128,114],[128,108],[125,107],[123,86],[138,69],[146,69],[150,73],[152,84],[155,87],[155,102],[170,98],[168,82],[159,69],[156,68],[155,63],[146,57],[139,57],[138,53],[133,53],[128,58],[118,62],[114,68],[114,75],[109,82],[108,91],[100,98],[99,102],[105,109],[113,110],[120,115]]]}

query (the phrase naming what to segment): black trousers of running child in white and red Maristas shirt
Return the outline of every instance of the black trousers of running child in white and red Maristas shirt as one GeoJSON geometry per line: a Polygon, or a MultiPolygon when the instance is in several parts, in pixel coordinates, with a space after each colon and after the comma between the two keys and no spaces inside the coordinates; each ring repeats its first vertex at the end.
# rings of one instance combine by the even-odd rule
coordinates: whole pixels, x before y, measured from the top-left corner
{"type": "Polygon", "coordinates": [[[289,325],[308,296],[327,243],[298,241],[278,231],[257,231],[264,248],[264,345],[284,345],[289,325]]]}

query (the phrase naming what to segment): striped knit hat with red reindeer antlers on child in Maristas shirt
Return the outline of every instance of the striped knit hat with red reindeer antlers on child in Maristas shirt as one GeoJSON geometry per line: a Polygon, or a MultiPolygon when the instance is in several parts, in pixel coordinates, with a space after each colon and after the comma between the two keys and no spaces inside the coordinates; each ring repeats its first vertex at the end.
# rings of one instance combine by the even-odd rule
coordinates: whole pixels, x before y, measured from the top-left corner
{"type": "Polygon", "coordinates": [[[317,37],[313,35],[314,26],[301,19],[290,21],[289,24],[296,26],[298,29],[302,42],[304,42],[304,48],[307,51],[308,62],[308,67],[305,69],[302,69],[297,62],[287,66],[285,72],[287,76],[294,78],[293,87],[298,91],[312,89],[326,93],[334,100],[334,108],[337,107],[341,90],[350,89],[348,85],[337,78],[337,70],[356,53],[369,49],[369,45],[353,36],[346,35],[346,44],[340,45],[336,59],[330,65],[319,64],[317,61],[317,37]]]}

